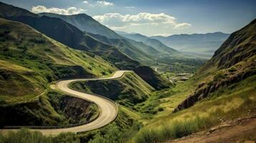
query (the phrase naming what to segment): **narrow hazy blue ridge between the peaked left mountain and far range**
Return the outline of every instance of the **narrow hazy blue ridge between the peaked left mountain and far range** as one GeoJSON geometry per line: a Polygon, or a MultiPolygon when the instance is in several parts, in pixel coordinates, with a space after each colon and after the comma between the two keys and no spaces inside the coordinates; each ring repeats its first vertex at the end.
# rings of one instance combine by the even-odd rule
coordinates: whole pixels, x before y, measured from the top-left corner
{"type": "Polygon", "coordinates": [[[124,36],[128,39],[133,39],[135,41],[141,41],[143,44],[146,44],[148,46],[152,46],[154,49],[161,52],[161,54],[169,54],[172,56],[179,56],[181,55],[181,52],[170,48],[169,46],[166,46],[161,41],[157,39],[151,39],[148,36],[144,36],[142,34],[125,34],[125,32],[118,32],[121,36],[124,36]]]}

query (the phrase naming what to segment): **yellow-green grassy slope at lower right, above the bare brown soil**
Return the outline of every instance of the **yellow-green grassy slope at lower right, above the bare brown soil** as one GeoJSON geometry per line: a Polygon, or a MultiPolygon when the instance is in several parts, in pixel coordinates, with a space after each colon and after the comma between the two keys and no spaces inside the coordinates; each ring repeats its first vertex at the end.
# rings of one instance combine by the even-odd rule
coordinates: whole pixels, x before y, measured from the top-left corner
{"type": "Polygon", "coordinates": [[[236,88],[214,92],[212,96],[189,109],[156,118],[143,127],[131,142],[164,142],[166,139],[176,139],[208,129],[219,124],[219,118],[230,120],[246,117],[248,110],[256,112],[255,78],[253,76],[245,79],[236,88]]]}

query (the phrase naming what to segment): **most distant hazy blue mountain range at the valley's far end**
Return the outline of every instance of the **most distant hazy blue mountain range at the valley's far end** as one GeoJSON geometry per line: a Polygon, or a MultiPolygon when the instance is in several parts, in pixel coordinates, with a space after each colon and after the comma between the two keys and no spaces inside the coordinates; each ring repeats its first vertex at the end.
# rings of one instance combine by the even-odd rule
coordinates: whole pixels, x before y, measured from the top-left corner
{"type": "Polygon", "coordinates": [[[151,38],[158,39],[163,44],[179,51],[204,54],[209,58],[228,36],[229,34],[215,32],[208,34],[175,34],[167,37],[151,36],[151,38]]]}

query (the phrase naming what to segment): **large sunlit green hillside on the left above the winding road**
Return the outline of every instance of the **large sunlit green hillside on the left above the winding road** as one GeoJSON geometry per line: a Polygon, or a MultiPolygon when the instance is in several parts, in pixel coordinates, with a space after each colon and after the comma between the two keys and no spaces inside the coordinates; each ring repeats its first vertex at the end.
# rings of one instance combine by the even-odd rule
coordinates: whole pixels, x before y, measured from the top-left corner
{"type": "Polygon", "coordinates": [[[5,85],[0,95],[15,96],[11,91],[16,91],[16,96],[37,95],[57,79],[100,77],[116,70],[100,56],[70,49],[24,24],[0,20],[0,39],[4,41],[0,44],[0,65],[4,70],[0,83],[5,85]]]}

